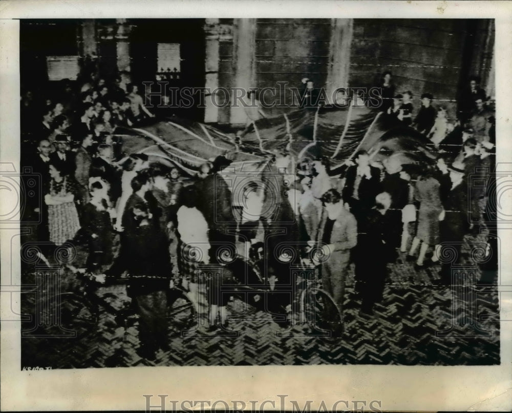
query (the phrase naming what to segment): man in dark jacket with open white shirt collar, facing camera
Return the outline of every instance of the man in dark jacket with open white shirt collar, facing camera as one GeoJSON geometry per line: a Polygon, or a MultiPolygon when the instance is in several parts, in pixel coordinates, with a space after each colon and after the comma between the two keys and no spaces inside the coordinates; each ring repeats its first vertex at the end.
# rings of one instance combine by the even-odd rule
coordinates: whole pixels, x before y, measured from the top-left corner
{"type": "Polygon", "coordinates": [[[366,151],[358,151],[355,165],[347,168],[343,201],[349,204],[350,212],[357,220],[365,216],[375,204],[380,192],[380,170],[370,166],[370,156],[366,151]]]}

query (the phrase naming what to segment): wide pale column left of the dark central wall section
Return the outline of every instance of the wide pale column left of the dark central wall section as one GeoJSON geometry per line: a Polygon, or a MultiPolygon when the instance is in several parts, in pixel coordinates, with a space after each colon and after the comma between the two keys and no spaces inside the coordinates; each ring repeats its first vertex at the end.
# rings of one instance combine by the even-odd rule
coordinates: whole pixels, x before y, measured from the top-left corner
{"type": "MultiPolygon", "coordinates": [[[[234,83],[232,87],[243,88],[245,93],[249,88],[255,87],[254,62],[256,49],[256,19],[237,18],[233,22],[233,65],[234,83]]],[[[240,94],[240,92],[239,92],[240,94]]],[[[247,101],[247,98],[245,98],[247,101]]],[[[231,93],[230,123],[232,125],[245,125],[247,115],[244,107],[232,105],[234,101],[231,93]]]]}

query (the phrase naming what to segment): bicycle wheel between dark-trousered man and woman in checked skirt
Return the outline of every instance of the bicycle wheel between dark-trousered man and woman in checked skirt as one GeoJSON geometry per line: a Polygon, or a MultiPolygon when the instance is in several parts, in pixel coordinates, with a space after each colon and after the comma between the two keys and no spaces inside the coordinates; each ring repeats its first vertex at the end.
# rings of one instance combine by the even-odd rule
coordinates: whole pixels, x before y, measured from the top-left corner
{"type": "Polygon", "coordinates": [[[170,336],[187,331],[196,321],[196,308],[180,288],[167,292],[167,328],[170,336]]]}

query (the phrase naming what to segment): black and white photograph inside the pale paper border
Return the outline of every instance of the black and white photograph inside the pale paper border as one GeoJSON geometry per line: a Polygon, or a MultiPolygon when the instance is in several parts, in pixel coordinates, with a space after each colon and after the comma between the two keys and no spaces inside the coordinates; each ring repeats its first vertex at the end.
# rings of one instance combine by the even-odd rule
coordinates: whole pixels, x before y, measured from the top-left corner
{"type": "Polygon", "coordinates": [[[18,370],[500,366],[510,88],[441,14],[19,19],[18,370]]]}

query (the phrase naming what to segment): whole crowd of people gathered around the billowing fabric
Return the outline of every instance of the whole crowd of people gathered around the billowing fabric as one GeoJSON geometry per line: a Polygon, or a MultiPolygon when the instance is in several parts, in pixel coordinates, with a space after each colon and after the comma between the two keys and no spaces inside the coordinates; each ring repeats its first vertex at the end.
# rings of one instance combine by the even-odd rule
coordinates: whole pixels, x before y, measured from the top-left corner
{"type": "Polygon", "coordinates": [[[432,106],[431,94],[421,95],[416,112],[412,93],[395,94],[391,74],[383,78],[382,112],[430,138],[435,162],[401,163],[393,156],[376,162],[360,150],[332,166],[326,158],[297,160],[276,152],[240,194],[231,193],[223,178],[226,156],[205,163],[194,177],[150,163],[144,154],[123,156],[113,130],[153,115],[137,87],[121,80],[109,85],[98,79],[80,93],[65,83],[61,94],[39,106],[31,92],[22,97],[23,162],[40,174],[44,195],[25,214],[38,217],[37,238],[45,245],[87,245],[84,268],[69,264],[73,272],[101,282],[129,274],[144,357],[168,346],[165,290],[171,282],[181,283],[196,304],[199,286],[208,284],[210,330],[226,327],[222,283],[205,279],[201,267],[217,265],[224,276],[239,277],[230,260],[254,260],[262,241],[272,311],[286,312],[290,269],[309,262],[341,313],[353,263],[360,314],[371,317],[382,300],[388,263],[415,261],[417,271],[440,265],[440,278],[432,282],[449,284],[453,262],[440,264],[443,249],[455,249],[460,259],[464,236],[483,229],[486,188],[472,188],[470,178],[478,171],[487,182],[493,170],[494,117],[475,79],[450,123],[446,108],[432,106]],[[226,245],[234,251],[227,259],[226,245]]]}

